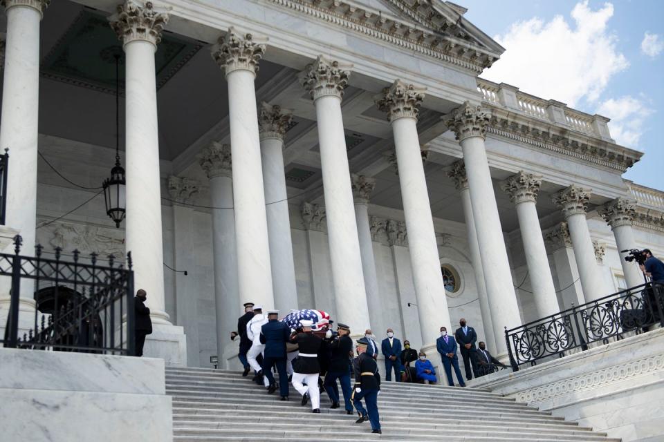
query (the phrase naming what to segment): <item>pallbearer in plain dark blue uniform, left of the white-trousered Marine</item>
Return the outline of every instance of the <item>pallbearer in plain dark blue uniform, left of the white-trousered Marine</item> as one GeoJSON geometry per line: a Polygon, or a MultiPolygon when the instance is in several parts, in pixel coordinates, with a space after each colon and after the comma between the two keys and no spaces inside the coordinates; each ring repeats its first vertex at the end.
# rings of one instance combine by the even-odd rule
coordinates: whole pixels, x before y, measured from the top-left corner
{"type": "Polygon", "coordinates": [[[268,311],[268,322],[261,327],[261,343],[265,344],[263,354],[263,374],[268,378],[268,393],[277,390],[272,367],[277,366],[279,373],[279,394],[282,401],[288,398],[288,373],[286,373],[286,341],[291,338],[291,328],[278,320],[279,311],[268,311]]]}

